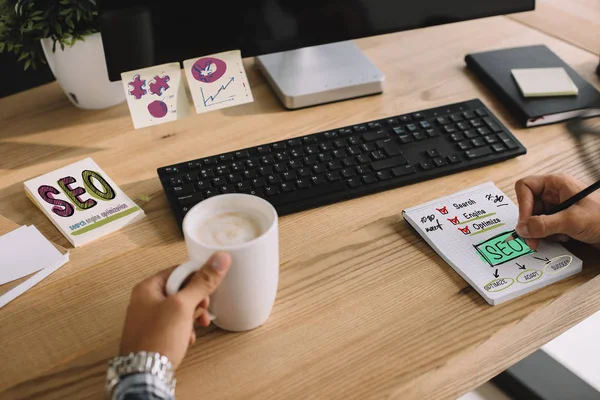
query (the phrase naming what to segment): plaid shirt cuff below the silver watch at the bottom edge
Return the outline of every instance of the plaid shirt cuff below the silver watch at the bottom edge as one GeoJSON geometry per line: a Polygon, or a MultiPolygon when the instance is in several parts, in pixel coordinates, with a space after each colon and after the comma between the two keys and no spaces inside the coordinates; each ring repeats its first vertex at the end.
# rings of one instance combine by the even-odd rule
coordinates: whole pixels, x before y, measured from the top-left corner
{"type": "Polygon", "coordinates": [[[128,375],[113,392],[113,400],[175,400],[169,387],[151,374],[128,375]]]}

